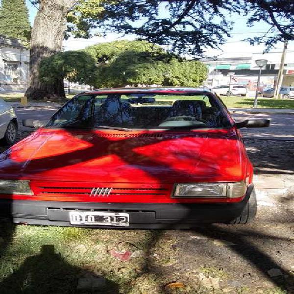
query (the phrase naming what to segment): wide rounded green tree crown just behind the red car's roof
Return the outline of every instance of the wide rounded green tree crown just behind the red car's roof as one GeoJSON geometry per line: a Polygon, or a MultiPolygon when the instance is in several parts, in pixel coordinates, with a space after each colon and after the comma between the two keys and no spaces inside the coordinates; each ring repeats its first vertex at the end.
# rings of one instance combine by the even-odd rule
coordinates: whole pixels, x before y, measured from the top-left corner
{"type": "Polygon", "coordinates": [[[97,88],[199,86],[207,77],[207,68],[199,61],[187,61],[147,41],[115,41],[57,53],[42,62],[41,73],[47,81],[57,74],[72,73],[71,80],[97,88]]]}

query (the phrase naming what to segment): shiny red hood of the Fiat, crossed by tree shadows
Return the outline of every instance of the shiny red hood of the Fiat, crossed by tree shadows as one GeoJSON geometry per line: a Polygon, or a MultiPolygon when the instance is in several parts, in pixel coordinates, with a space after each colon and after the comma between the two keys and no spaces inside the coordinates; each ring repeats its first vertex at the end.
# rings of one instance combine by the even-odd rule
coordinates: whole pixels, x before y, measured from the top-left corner
{"type": "Polygon", "coordinates": [[[234,128],[197,131],[39,129],[0,156],[1,178],[83,182],[245,179],[234,128]]]}

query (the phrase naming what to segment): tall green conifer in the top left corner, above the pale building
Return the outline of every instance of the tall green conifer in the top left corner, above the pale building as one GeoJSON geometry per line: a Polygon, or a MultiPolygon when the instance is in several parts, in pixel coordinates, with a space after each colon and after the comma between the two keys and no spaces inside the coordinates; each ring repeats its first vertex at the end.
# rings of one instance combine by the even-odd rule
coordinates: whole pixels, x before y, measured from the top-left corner
{"type": "Polygon", "coordinates": [[[29,40],[30,24],[25,0],[1,0],[0,34],[29,40]]]}

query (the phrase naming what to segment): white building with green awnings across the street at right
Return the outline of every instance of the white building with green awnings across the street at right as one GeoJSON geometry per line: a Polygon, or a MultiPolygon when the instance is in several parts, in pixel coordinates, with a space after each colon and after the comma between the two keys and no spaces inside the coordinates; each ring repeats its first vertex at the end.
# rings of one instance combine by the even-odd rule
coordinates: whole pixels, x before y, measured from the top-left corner
{"type": "MultiPolygon", "coordinates": [[[[206,85],[216,87],[231,83],[246,85],[249,91],[255,91],[259,68],[256,59],[267,59],[268,64],[262,70],[260,88],[274,87],[280,67],[282,51],[270,53],[252,53],[247,57],[203,58],[201,61],[208,67],[209,73],[206,85]]],[[[287,50],[283,71],[282,86],[294,86],[294,51],[287,50]]]]}

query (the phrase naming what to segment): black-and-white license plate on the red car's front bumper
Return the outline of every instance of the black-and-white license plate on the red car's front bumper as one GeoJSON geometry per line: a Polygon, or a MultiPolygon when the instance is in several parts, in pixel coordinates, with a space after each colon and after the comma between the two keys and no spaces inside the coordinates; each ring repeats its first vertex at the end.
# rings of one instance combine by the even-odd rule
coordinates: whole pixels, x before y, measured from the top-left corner
{"type": "Polygon", "coordinates": [[[129,226],[129,214],[121,212],[70,211],[71,224],[129,226]]]}

